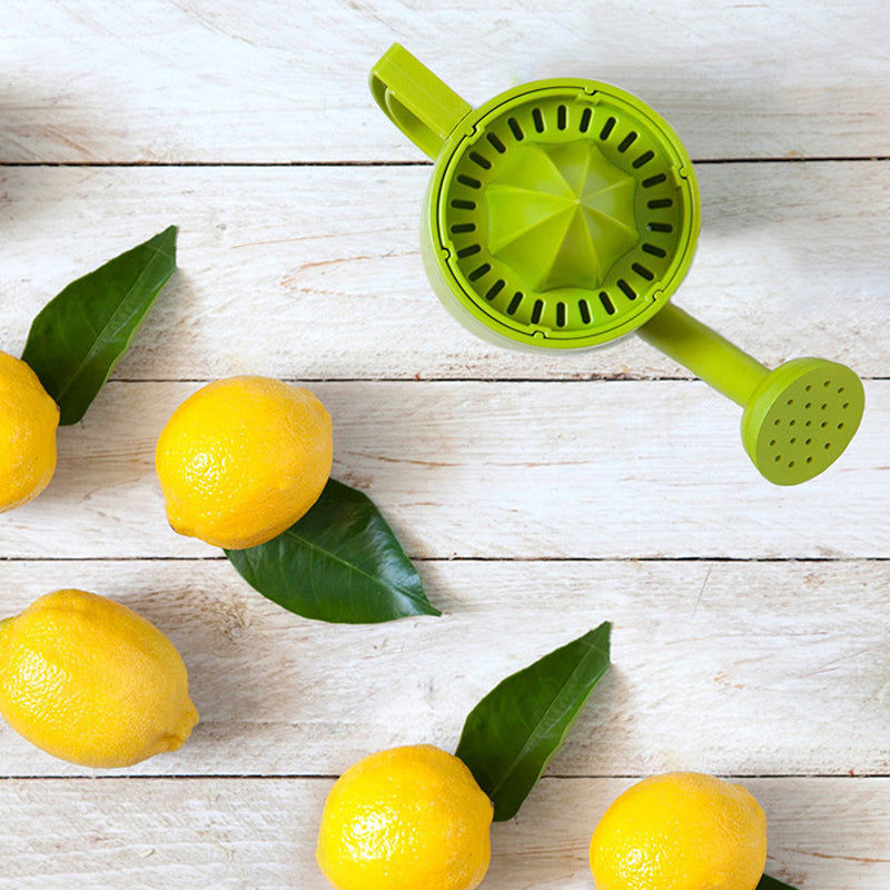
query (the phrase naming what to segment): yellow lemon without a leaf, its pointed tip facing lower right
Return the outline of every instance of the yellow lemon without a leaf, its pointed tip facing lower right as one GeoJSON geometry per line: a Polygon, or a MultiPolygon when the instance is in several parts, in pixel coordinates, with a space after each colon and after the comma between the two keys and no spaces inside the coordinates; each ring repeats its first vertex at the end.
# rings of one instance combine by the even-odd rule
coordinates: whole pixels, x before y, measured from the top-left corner
{"type": "Polygon", "coordinates": [[[198,722],[174,644],[126,606],[73,590],[0,622],[0,713],[53,756],[107,768],[175,751],[198,722]]]}

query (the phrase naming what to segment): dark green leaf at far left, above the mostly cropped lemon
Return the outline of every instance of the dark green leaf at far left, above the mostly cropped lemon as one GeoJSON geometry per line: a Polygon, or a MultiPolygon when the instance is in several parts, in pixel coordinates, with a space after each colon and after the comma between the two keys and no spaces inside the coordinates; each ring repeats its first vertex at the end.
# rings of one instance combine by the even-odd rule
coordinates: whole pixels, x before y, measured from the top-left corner
{"type": "Polygon", "coordinates": [[[22,360],[76,424],[176,269],[176,226],[78,278],[38,314],[22,360]]]}

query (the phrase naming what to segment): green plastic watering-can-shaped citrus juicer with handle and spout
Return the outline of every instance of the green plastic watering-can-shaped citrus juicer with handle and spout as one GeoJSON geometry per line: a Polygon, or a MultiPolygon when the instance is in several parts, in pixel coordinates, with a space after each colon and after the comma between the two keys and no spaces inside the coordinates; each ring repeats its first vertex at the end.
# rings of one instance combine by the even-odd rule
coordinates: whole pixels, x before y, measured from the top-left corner
{"type": "Polygon", "coordinates": [[[795,358],[769,370],[670,303],[695,250],[699,187],[676,135],[640,99],[566,78],[473,109],[397,43],[370,89],[435,160],[424,265],[465,327],[545,349],[635,330],[744,408],[742,442],[770,482],[805,482],[840,456],[864,407],[850,368],[795,358]]]}

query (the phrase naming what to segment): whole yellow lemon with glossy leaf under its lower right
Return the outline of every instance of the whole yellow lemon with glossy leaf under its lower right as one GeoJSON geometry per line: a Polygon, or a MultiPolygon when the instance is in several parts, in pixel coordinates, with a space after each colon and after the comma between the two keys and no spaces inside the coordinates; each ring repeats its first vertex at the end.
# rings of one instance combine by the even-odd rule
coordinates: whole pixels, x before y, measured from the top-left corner
{"type": "Polygon", "coordinates": [[[330,415],[308,389],[230,377],[176,409],[155,466],[175,531],[243,550],[270,541],[309,510],[332,456],[330,415]]]}

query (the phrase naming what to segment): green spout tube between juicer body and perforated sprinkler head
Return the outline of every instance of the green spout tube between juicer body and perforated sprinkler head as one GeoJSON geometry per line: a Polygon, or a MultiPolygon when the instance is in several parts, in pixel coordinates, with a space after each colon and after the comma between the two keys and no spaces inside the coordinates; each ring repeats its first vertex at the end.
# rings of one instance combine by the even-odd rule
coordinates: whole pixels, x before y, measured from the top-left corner
{"type": "Polygon", "coordinates": [[[636,333],[742,407],[770,373],[755,358],[672,303],[636,333]]]}

